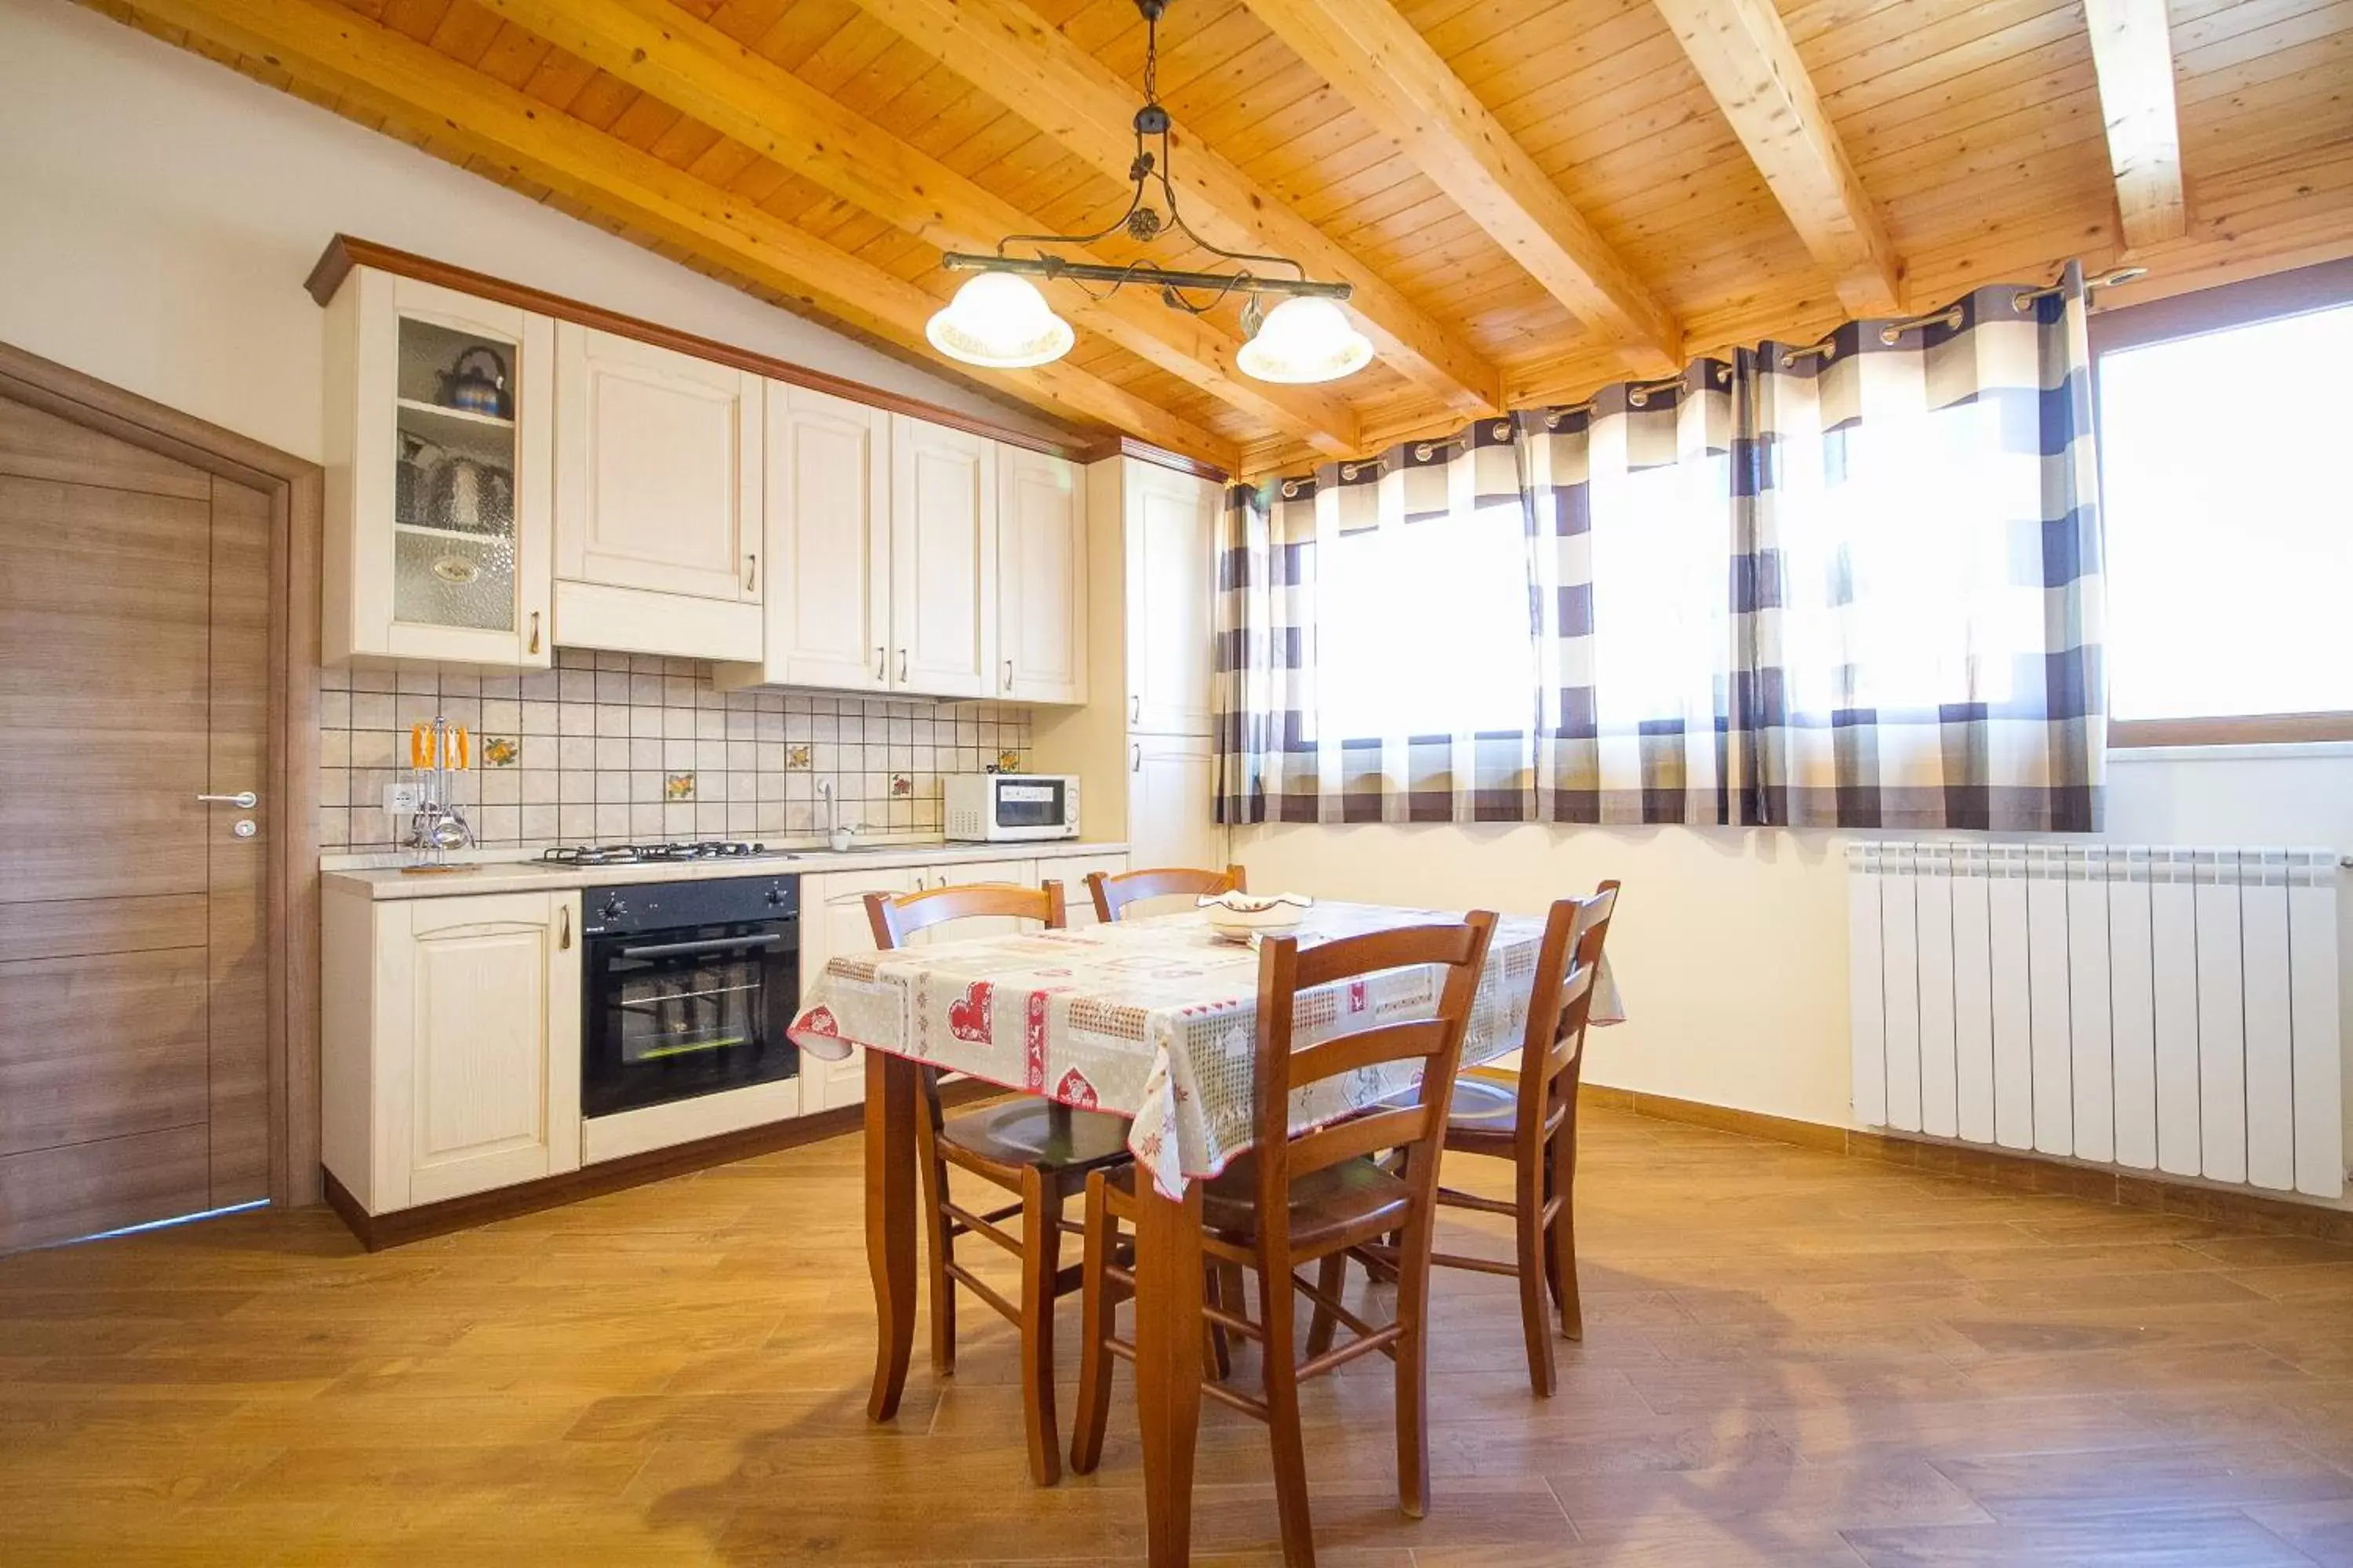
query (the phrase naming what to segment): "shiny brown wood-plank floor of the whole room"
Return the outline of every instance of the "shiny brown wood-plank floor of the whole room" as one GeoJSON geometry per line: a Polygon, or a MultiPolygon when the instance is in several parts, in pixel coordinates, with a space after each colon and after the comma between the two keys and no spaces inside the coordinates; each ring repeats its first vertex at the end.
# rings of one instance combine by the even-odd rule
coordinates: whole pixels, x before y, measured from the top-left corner
{"type": "MultiPolygon", "coordinates": [[[[1306,1392],[1329,1568],[2353,1563],[2353,1248],[1586,1117],[1560,1396],[1442,1276],[1428,1519],[1386,1361],[1306,1392]]],[[[965,1324],[871,1427],[854,1138],[374,1258],[311,1211],[0,1260],[0,1561],[1134,1559],[1125,1368],[1033,1490],[965,1324]]],[[[1200,1561],[1273,1561],[1266,1439],[1202,1420],[1200,1561]]]]}

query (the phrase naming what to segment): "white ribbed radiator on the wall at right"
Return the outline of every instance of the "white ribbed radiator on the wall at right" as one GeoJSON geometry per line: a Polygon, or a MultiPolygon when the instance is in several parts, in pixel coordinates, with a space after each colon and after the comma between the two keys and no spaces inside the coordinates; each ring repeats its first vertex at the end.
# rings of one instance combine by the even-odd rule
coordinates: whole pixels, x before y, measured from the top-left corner
{"type": "Polygon", "coordinates": [[[2337,851],[1849,844],[1854,1117],[2339,1197],[2337,851]]]}

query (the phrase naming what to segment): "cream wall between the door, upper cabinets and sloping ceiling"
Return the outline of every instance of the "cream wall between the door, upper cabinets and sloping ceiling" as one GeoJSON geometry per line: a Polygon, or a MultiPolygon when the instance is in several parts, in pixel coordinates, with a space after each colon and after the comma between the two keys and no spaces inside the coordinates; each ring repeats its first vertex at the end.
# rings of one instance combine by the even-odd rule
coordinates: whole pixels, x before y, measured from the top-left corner
{"type": "Polygon", "coordinates": [[[1052,430],[66,0],[0,0],[0,341],[320,456],[336,233],[1052,430]]]}

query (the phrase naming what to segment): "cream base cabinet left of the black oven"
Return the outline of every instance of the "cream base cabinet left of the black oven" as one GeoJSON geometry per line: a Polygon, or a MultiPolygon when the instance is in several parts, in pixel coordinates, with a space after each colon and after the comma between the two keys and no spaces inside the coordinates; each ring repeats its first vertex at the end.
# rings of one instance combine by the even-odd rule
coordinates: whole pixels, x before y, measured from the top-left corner
{"type": "Polygon", "coordinates": [[[322,1154],[367,1213],[579,1168],[579,903],[325,900],[322,1154]]]}

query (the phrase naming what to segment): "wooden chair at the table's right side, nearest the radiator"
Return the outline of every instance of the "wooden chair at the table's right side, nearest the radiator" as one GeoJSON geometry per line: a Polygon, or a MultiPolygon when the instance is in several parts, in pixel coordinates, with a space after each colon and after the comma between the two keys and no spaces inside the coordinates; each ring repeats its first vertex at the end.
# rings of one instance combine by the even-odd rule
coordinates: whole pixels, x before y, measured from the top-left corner
{"type": "MultiPolygon", "coordinates": [[[[1485,1070],[1454,1079],[1445,1145],[1449,1154],[1485,1154],[1513,1164],[1511,1199],[1489,1199],[1440,1187],[1447,1208],[1511,1215],[1513,1260],[1433,1253],[1442,1269],[1511,1274],[1520,1281],[1520,1328],[1527,1335],[1527,1380],[1551,1399],[1558,1385],[1553,1324],[1546,1291],[1560,1309],[1560,1335],[1586,1338],[1577,1300],[1577,1084],[1586,1060],[1586,1016],[1600,973],[1602,943],[1617,912],[1617,882],[1602,882],[1593,898],[1562,898],[1544,922],[1537,980],[1520,1037],[1520,1070],[1497,1077],[1485,1070]]],[[[1395,1244],[1365,1248],[1367,1265],[1386,1274],[1395,1244]]],[[[1341,1258],[1327,1262],[1320,1286],[1341,1293],[1341,1258]]],[[[1334,1324],[1318,1307],[1308,1326],[1308,1354],[1332,1342],[1334,1324]]]]}

